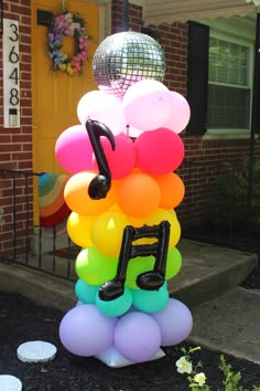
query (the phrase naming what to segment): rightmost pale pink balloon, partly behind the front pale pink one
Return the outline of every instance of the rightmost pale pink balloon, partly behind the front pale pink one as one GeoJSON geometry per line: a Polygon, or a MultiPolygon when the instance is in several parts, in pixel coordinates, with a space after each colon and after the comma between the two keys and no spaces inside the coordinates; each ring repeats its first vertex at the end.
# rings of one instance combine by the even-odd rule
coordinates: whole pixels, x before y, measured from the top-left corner
{"type": "Polygon", "coordinates": [[[165,124],[163,124],[163,126],[175,133],[180,133],[185,129],[185,127],[189,121],[191,108],[185,97],[182,96],[181,94],[172,91],[171,98],[172,98],[171,117],[166,120],[165,124]]]}

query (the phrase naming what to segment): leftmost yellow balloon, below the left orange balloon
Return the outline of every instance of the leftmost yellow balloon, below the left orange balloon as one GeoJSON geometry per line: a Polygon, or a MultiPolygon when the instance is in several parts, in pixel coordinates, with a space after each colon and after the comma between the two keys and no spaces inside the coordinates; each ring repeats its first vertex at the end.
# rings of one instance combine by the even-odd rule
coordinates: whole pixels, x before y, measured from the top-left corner
{"type": "Polygon", "coordinates": [[[72,212],[67,219],[67,234],[79,247],[89,247],[93,242],[90,231],[97,215],[84,215],[72,212]]]}

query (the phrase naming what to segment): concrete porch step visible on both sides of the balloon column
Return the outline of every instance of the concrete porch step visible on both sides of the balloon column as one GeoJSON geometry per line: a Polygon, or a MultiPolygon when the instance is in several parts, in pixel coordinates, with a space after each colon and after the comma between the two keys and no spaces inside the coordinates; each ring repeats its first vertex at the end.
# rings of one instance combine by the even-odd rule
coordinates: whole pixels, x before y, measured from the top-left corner
{"type": "MultiPolygon", "coordinates": [[[[256,267],[258,260],[256,254],[188,240],[182,240],[178,249],[183,266],[169,282],[169,292],[191,309],[238,286],[256,267]]],[[[30,262],[32,266],[37,264],[36,257],[34,261],[30,262]]],[[[52,258],[45,256],[41,264],[42,268],[51,270],[52,258]]],[[[56,270],[61,274],[66,267],[66,261],[56,257],[56,270]]],[[[33,268],[0,263],[0,289],[21,293],[42,305],[68,309],[76,303],[74,286],[73,282],[33,268]]]]}

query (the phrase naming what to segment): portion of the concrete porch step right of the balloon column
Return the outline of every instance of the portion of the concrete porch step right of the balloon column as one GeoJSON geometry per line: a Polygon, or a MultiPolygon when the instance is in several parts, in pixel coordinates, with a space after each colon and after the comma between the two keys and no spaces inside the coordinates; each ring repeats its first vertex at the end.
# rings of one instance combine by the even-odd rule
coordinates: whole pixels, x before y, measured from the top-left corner
{"type": "Polygon", "coordinates": [[[258,263],[258,255],[182,240],[183,265],[169,282],[171,296],[189,308],[238,286],[258,263]]]}

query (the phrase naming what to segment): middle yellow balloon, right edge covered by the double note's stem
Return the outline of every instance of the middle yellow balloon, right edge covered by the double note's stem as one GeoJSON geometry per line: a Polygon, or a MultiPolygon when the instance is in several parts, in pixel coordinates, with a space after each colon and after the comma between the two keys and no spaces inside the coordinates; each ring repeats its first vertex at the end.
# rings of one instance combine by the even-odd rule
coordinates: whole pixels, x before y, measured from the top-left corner
{"type": "Polygon", "coordinates": [[[127,216],[118,211],[100,214],[91,228],[91,241],[105,255],[119,256],[122,234],[126,225],[130,225],[127,216]]]}

